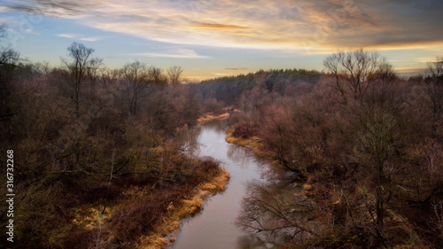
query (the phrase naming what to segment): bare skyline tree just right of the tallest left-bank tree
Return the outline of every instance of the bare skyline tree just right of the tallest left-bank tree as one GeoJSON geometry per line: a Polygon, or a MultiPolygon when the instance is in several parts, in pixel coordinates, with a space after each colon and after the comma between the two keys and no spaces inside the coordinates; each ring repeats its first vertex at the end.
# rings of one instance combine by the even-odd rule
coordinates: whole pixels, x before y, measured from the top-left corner
{"type": "Polygon", "coordinates": [[[148,69],[140,61],[136,61],[127,64],[121,70],[123,83],[128,91],[129,113],[132,115],[136,115],[144,98],[154,91],[151,82],[155,82],[154,73],[157,75],[158,71],[152,68],[148,69]]]}

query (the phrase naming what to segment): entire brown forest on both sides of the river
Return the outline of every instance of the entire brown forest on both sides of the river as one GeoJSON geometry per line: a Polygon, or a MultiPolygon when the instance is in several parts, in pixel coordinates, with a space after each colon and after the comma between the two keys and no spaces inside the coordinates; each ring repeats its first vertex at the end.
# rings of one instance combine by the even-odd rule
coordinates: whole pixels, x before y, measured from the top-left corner
{"type": "Polygon", "coordinates": [[[283,248],[443,248],[443,58],[409,78],[360,49],[325,58],[324,73],[186,82],[180,66],[108,68],[82,43],[66,44],[61,66],[32,63],[4,30],[0,146],[16,159],[16,248],[164,246],[152,234],[167,235],[174,206],[223,175],[181,130],[223,107],[238,109],[229,136],[303,183],[291,198],[254,186],[243,230],[283,248]]]}

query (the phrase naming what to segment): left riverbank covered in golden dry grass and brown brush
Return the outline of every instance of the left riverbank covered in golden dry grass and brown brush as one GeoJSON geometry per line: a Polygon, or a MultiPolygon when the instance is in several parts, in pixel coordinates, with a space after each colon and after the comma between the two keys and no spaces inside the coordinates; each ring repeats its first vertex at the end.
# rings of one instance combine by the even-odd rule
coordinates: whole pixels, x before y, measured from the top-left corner
{"type": "Polygon", "coordinates": [[[189,162],[192,173],[182,182],[128,183],[117,179],[119,183],[108,188],[120,191],[120,197],[105,205],[72,210],[74,228],[70,233],[87,237],[97,248],[160,249],[173,244],[171,234],[179,230],[182,219],[197,214],[206,198],[224,191],[230,178],[214,160],[189,162]]]}

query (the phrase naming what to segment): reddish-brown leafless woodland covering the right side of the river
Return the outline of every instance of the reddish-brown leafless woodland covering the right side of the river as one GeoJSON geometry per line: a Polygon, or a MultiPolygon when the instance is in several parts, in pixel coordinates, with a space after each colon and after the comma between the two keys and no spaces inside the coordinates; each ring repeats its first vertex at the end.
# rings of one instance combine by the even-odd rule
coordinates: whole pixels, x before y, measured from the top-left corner
{"type": "Polygon", "coordinates": [[[443,59],[409,81],[377,52],[324,66],[308,87],[255,77],[237,98],[232,135],[304,179],[301,193],[251,187],[238,225],[284,248],[441,248],[443,59]]]}

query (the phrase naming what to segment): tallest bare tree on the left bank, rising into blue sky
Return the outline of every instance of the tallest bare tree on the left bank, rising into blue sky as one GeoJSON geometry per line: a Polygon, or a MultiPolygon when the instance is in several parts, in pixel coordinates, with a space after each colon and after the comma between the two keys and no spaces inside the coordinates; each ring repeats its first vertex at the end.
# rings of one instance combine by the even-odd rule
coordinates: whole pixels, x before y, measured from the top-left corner
{"type": "Polygon", "coordinates": [[[71,46],[67,48],[67,51],[72,60],[61,58],[61,61],[66,66],[64,71],[66,83],[74,90],[75,113],[76,116],[79,117],[82,84],[89,76],[89,66],[92,61],[90,56],[94,52],[94,49],[87,48],[82,43],[72,43],[71,46]]]}

